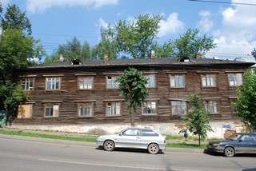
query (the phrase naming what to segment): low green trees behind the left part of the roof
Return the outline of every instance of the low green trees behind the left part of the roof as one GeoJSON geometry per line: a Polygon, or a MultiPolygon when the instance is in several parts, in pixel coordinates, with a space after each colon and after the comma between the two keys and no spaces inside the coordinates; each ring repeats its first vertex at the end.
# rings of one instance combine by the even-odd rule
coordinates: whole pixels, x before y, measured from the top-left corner
{"type": "Polygon", "coordinates": [[[90,46],[86,41],[82,45],[78,38],[74,37],[66,44],[58,46],[58,49],[54,50],[53,54],[46,57],[44,63],[58,62],[60,54],[64,56],[65,61],[74,59],[83,61],[90,58],[90,46]]]}

